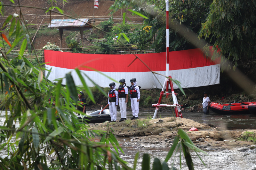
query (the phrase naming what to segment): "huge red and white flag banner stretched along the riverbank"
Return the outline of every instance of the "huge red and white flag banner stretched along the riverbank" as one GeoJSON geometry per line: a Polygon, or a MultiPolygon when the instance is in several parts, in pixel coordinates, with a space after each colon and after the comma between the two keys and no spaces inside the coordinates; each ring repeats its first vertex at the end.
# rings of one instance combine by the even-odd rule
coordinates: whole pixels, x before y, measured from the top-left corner
{"type": "MultiPolygon", "coordinates": [[[[166,75],[166,54],[151,53],[137,54],[148,67],[162,75],[166,75]]],[[[75,68],[79,68],[85,75],[92,79],[101,87],[108,87],[111,79],[116,80],[124,78],[126,84],[130,85],[130,79],[136,78],[137,85],[143,89],[162,88],[161,83],[165,77],[153,75],[149,69],[138,59],[133,63],[135,56],[126,55],[104,55],[104,54],[80,54],[68,53],[52,50],[44,50],[45,67],[51,70],[49,80],[55,81],[58,78],[65,78],[66,73],[71,72],[76,85],[82,85],[75,68]],[[129,67],[128,65],[132,63],[129,67]],[[97,72],[95,70],[100,71],[97,72]],[[103,73],[103,74],[102,74],[103,73]]],[[[180,82],[181,87],[197,87],[205,85],[214,85],[220,83],[220,60],[211,61],[204,57],[199,49],[189,49],[183,51],[169,52],[169,75],[180,82]]],[[[45,76],[48,71],[45,71],[45,76]]],[[[87,85],[93,87],[94,84],[84,76],[87,85]]],[[[63,84],[66,84],[64,79],[63,84]]],[[[178,88],[173,84],[174,88],[178,88]]]]}

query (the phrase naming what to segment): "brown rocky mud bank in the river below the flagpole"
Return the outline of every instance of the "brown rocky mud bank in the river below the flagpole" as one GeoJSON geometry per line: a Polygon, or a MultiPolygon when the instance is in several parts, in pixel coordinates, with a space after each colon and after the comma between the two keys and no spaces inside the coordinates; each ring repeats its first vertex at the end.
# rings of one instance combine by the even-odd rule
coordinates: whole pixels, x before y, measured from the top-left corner
{"type": "MultiPolygon", "coordinates": [[[[199,148],[207,150],[223,150],[237,148],[241,152],[254,147],[253,142],[239,141],[245,131],[254,129],[226,130],[211,124],[200,124],[185,118],[166,117],[161,119],[138,119],[124,122],[111,122],[110,127],[116,137],[130,137],[130,140],[120,142],[120,145],[132,147],[170,147],[177,136],[177,130],[187,132],[192,142],[199,148]],[[199,131],[189,131],[192,127],[199,131]]],[[[107,130],[106,123],[90,124],[90,129],[107,130]]]]}

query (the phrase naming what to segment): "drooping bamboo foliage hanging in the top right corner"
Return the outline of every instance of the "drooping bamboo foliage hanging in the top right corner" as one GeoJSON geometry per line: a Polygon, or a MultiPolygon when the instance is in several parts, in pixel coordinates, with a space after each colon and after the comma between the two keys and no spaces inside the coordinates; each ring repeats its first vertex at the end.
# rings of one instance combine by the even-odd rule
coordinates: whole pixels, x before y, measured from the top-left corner
{"type": "Polygon", "coordinates": [[[199,37],[205,37],[216,52],[220,49],[236,67],[240,59],[256,55],[255,13],[256,1],[213,1],[199,37]]]}

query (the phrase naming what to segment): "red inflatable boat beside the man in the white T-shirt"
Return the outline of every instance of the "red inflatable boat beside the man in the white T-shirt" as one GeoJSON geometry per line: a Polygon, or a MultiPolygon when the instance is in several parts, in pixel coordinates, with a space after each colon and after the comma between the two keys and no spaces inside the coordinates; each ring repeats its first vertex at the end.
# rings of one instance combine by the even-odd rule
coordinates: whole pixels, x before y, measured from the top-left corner
{"type": "MultiPolygon", "coordinates": [[[[210,103],[210,109],[219,114],[250,114],[248,109],[249,104],[252,102],[244,103],[231,103],[231,104],[219,104],[219,103],[210,103]]],[[[256,110],[256,105],[252,106],[256,110]]]]}

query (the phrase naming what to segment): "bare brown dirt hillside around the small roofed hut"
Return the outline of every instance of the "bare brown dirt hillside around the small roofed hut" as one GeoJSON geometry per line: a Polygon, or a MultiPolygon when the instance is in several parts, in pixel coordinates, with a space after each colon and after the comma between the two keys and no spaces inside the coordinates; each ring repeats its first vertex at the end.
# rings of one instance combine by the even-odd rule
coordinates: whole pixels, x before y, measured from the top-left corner
{"type": "MultiPolygon", "coordinates": [[[[53,6],[59,7],[61,10],[64,11],[66,15],[71,15],[75,16],[76,18],[80,18],[80,16],[88,16],[88,18],[93,18],[93,5],[94,1],[93,0],[68,0],[68,3],[65,3],[63,6],[62,0],[56,0],[57,3],[52,4],[53,6]],[[91,16],[91,17],[89,17],[91,16]]],[[[14,0],[15,5],[18,4],[17,0],[14,0]]],[[[5,4],[12,4],[10,1],[8,1],[5,4]]],[[[109,16],[109,7],[114,4],[114,1],[99,1],[99,9],[94,10],[94,16],[95,18],[97,16],[104,16],[107,17],[109,16]]],[[[37,8],[44,8],[48,9],[51,5],[49,4],[49,1],[47,0],[21,0],[20,5],[22,6],[30,6],[30,7],[37,7],[37,8]]],[[[21,7],[21,11],[23,14],[32,14],[32,15],[24,15],[26,17],[27,23],[31,24],[37,24],[39,25],[41,23],[41,19],[43,17],[49,18],[50,13],[47,12],[45,13],[45,10],[42,9],[36,9],[36,8],[27,8],[27,7],[21,7]],[[37,16],[37,19],[35,18],[35,15],[47,15],[47,16],[37,16]],[[28,18],[30,17],[30,18],[28,18]],[[40,19],[41,18],[41,19],[40,19]]],[[[57,11],[57,10],[55,10],[57,11]]],[[[122,10],[122,13],[126,12],[127,17],[132,17],[132,13],[130,11],[122,10]]],[[[13,14],[13,13],[18,13],[20,14],[20,10],[18,7],[5,7],[5,14],[13,14]]],[[[56,13],[52,13],[51,15],[59,15],[56,13]]],[[[117,11],[114,14],[114,17],[121,17],[123,14],[121,14],[121,10],[117,11]]],[[[58,17],[59,18],[59,17],[58,17]]],[[[62,19],[63,17],[61,17],[62,19]]],[[[3,22],[6,19],[6,17],[0,17],[0,23],[3,22]]],[[[51,18],[51,19],[57,19],[57,18],[51,18]]],[[[140,18],[132,18],[132,21],[137,21],[141,20],[140,18]]],[[[101,22],[101,20],[98,20],[101,22]]],[[[44,18],[44,21],[42,24],[49,24],[50,19],[44,18]]],[[[97,25],[96,23],[95,25],[97,25]]],[[[41,26],[43,27],[43,26],[41,26]]],[[[34,27],[35,29],[38,28],[38,26],[34,27]]],[[[40,31],[40,30],[39,30],[40,31]]],[[[63,32],[63,38],[62,38],[62,48],[68,48],[66,41],[65,41],[65,36],[68,35],[68,32],[64,31],[63,32]]],[[[87,35],[88,36],[88,35],[87,35]]],[[[33,38],[33,37],[32,37],[33,38]]],[[[86,38],[86,35],[84,35],[84,38],[86,38]]],[[[81,38],[80,38],[81,40],[81,38]]],[[[79,40],[78,40],[79,41],[79,40]]],[[[42,49],[47,42],[55,43],[57,46],[60,46],[60,37],[59,34],[56,35],[44,35],[41,37],[36,36],[35,40],[33,41],[34,46],[36,49],[42,49]]],[[[92,45],[90,42],[83,40],[84,47],[92,45]]]]}

